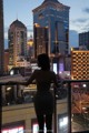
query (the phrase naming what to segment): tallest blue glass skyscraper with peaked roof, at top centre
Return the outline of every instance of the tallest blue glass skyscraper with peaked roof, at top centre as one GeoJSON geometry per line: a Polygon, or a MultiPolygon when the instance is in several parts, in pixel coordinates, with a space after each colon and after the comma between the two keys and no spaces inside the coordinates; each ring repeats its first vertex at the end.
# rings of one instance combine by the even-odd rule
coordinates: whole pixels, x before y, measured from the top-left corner
{"type": "Polygon", "coordinates": [[[48,53],[69,51],[69,7],[58,0],[44,0],[33,9],[33,25],[48,27],[48,53]]]}

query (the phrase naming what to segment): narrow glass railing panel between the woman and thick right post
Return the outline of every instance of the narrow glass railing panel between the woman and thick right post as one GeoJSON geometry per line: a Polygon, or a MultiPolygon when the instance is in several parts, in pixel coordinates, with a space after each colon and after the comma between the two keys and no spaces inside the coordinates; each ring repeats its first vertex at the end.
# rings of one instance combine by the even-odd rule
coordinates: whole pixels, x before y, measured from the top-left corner
{"type": "Polygon", "coordinates": [[[57,91],[57,133],[68,133],[68,84],[60,83],[57,91]]]}

